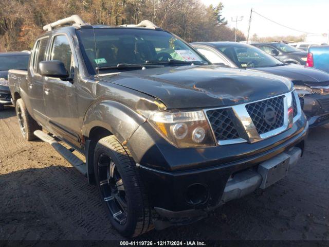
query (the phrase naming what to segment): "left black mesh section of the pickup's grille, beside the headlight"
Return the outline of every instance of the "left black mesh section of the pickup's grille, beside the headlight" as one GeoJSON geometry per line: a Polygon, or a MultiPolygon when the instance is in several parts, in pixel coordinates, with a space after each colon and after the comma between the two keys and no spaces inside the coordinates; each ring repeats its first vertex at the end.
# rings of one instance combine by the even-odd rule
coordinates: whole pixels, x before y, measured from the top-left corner
{"type": "Polygon", "coordinates": [[[207,111],[207,117],[217,140],[240,138],[230,117],[231,109],[207,111]]]}

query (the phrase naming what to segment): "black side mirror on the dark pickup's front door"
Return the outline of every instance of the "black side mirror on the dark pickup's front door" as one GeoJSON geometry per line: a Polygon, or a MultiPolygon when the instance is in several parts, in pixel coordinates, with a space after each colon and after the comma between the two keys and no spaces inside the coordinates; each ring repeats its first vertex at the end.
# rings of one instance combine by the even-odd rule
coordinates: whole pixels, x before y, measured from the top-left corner
{"type": "Polygon", "coordinates": [[[56,78],[67,78],[65,65],[59,60],[42,61],[39,63],[40,75],[56,78]]]}

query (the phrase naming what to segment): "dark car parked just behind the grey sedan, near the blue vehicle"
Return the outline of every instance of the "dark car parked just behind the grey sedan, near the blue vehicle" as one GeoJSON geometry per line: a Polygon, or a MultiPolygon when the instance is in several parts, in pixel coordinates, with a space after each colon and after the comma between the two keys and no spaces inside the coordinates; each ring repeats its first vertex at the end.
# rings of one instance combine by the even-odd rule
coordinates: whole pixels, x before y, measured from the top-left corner
{"type": "Polygon", "coordinates": [[[306,65],[307,52],[281,42],[251,44],[284,63],[306,65]]]}

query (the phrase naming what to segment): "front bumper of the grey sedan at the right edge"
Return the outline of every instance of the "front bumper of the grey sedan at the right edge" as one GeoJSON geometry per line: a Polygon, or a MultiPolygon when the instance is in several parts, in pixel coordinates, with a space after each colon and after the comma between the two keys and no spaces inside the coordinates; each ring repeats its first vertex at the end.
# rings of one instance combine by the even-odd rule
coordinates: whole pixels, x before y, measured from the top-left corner
{"type": "Polygon", "coordinates": [[[329,95],[305,94],[299,97],[310,128],[329,122],[329,95]]]}

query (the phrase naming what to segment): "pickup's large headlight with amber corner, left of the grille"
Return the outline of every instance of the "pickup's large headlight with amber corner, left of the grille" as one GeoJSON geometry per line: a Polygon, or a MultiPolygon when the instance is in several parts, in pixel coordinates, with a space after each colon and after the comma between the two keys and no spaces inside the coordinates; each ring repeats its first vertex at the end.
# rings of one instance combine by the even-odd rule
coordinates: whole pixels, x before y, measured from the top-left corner
{"type": "Polygon", "coordinates": [[[179,148],[215,146],[203,111],[155,112],[149,122],[171,144],[179,148]]]}

